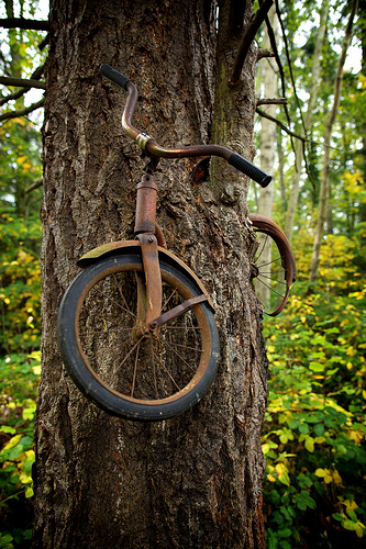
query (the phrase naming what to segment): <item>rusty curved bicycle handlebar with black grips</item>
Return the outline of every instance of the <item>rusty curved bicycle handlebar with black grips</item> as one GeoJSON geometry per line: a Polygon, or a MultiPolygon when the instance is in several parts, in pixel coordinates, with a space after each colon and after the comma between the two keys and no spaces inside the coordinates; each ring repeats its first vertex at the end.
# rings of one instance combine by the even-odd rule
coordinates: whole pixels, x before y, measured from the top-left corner
{"type": "Polygon", "coordinates": [[[267,187],[271,181],[271,176],[260,170],[254,164],[243,158],[237,153],[233,153],[221,145],[195,145],[181,148],[165,148],[158,145],[149,135],[136,130],[132,123],[133,112],[137,102],[137,89],[135,85],[125,76],[114,70],[109,65],[101,65],[100,72],[129,92],[129,98],[122,114],[122,127],[126,135],[134,139],[137,145],[148,155],[163,158],[187,158],[191,156],[213,155],[224,158],[231,166],[239,169],[251,179],[267,187]]]}

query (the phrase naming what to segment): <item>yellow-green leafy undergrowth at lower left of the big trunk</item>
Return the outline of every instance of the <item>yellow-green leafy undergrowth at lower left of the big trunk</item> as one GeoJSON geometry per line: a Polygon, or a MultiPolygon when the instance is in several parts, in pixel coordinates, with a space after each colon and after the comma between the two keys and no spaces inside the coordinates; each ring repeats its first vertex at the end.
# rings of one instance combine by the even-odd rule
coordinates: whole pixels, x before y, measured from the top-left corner
{"type": "Polygon", "coordinates": [[[33,421],[41,354],[0,359],[0,547],[30,547],[33,520],[33,421]]]}

